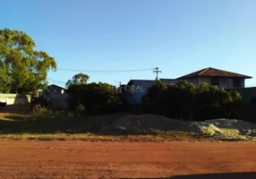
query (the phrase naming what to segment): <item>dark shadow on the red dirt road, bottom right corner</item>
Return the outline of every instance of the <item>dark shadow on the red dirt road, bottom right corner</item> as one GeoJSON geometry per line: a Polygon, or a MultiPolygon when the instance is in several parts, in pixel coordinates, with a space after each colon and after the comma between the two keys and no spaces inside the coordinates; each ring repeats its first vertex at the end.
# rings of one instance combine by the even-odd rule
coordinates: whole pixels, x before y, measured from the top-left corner
{"type": "MultiPolygon", "coordinates": [[[[256,172],[223,173],[223,174],[201,174],[201,175],[176,175],[164,179],[256,179],[256,172]]],[[[137,178],[139,179],[139,178],[137,178]]],[[[141,178],[146,179],[146,178],[141,178]]],[[[155,178],[148,178],[155,179],[155,178]]],[[[157,179],[157,178],[156,178],[157,179]]]]}

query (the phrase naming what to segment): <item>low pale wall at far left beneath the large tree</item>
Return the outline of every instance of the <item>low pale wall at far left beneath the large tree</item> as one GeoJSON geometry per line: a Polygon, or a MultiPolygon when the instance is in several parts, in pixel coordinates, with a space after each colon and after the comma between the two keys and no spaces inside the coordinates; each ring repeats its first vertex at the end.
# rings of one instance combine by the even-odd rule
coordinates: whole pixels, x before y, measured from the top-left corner
{"type": "Polygon", "coordinates": [[[28,105],[30,104],[30,95],[4,94],[0,93],[0,101],[7,102],[7,105],[28,105]]]}

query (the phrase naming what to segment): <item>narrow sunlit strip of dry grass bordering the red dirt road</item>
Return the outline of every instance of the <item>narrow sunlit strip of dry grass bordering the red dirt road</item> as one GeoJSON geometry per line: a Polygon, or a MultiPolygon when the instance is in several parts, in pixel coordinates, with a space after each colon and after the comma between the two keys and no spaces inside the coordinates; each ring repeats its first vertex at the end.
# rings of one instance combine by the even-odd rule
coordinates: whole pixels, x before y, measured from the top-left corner
{"type": "Polygon", "coordinates": [[[158,134],[138,135],[98,135],[93,133],[21,133],[0,134],[2,140],[38,140],[38,141],[138,141],[138,142],[165,142],[165,141],[246,141],[218,139],[209,135],[189,132],[163,132],[158,134]]]}

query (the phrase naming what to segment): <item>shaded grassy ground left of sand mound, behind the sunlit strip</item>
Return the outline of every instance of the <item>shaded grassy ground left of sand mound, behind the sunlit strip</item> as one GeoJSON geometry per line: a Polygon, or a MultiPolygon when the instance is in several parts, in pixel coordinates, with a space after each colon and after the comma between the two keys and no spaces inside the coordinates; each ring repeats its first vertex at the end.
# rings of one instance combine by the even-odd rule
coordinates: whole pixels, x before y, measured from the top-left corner
{"type": "Polygon", "coordinates": [[[127,114],[70,117],[57,115],[35,117],[28,108],[6,107],[0,110],[0,133],[98,133],[102,126],[112,124],[127,114]],[[17,110],[18,109],[18,110],[17,110]]]}

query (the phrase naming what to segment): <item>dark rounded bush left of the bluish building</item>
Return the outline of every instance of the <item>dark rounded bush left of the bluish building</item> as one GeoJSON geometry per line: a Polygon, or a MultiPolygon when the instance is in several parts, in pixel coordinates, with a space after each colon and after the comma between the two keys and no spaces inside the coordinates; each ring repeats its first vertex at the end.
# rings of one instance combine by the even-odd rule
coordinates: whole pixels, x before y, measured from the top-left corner
{"type": "Polygon", "coordinates": [[[111,113],[122,105],[121,94],[114,86],[103,82],[69,86],[68,104],[71,110],[82,105],[87,113],[111,113]]]}

